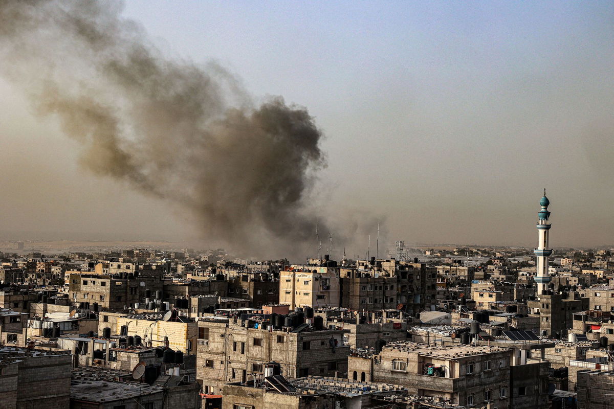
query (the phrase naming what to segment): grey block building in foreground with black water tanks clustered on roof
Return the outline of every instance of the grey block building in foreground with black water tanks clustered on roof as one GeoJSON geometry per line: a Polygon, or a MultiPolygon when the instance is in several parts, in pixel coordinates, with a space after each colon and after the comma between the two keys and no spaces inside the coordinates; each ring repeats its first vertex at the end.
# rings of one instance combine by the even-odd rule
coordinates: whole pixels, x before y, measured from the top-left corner
{"type": "Polygon", "coordinates": [[[196,377],[206,393],[219,393],[222,385],[246,381],[262,373],[263,364],[281,364],[287,378],[334,376],[348,372],[346,329],[297,327],[255,328],[252,321],[201,318],[198,321],[196,377]]]}

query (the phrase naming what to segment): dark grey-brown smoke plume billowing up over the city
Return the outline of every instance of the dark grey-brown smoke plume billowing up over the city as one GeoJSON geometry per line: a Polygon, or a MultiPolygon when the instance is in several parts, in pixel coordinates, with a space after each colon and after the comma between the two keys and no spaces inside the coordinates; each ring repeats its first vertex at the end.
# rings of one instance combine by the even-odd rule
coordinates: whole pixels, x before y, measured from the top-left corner
{"type": "Polygon", "coordinates": [[[254,106],[222,67],[166,58],[119,2],[0,5],[2,74],[82,144],[88,169],[171,202],[233,248],[313,235],[305,202],[325,159],[306,109],[254,106]]]}

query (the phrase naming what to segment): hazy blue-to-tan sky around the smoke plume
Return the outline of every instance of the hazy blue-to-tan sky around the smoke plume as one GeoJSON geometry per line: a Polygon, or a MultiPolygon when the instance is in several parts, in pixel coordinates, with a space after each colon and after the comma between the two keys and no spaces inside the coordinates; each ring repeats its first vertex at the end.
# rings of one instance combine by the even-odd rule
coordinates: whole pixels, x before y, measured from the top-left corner
{"type": "MultiPolygon", "coordinates": [[[[328,160],[313,201],[380,221],[384,248],[532,246],[543,188],[553,247],[614,244],[611,1],[131,0],[123,15],[168,56],[307,107],[328,160]]],[[[80,167],[78,143],[2,79],[0,107],[2,238],[199,237],[168,202],[80,167]]]]}

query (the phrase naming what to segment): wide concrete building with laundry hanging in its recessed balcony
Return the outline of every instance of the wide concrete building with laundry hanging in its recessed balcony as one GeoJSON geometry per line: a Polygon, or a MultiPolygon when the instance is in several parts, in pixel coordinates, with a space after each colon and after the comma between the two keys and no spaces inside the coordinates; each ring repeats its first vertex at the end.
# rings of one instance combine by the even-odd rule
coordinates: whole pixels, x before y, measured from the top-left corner
{"type": "Polygon", "coordinates": [[[398,383],[410,394],[440,396],[459,405],[510,407],[512,350],[498,346],[429,346],[396,342],[378,354],[348,359],[349,376],[398,383]]]}

